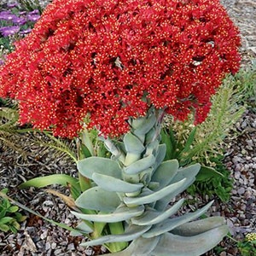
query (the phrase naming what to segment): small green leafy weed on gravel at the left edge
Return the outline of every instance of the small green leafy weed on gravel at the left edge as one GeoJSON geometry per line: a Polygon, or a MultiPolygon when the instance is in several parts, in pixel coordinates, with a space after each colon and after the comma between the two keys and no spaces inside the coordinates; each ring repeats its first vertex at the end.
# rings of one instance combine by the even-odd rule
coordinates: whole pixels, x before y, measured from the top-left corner
{"type": "MultiPolygon", "coordinates": [[[[8,189],[2,189],[3,194],[7,194],[8,189]]],[[[0,198],[0,230],[3,232],[17,233],[20,229],[20,222],[26,219],[19,211],[19,207],[14,206],[6,198],[0,198]]]]}

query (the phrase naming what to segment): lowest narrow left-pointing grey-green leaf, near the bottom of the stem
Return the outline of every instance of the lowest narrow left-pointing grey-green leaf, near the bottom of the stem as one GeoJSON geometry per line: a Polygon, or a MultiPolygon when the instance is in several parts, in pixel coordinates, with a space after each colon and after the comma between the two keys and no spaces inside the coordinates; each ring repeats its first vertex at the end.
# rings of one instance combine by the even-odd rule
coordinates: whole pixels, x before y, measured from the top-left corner
{"type": "Polygon", "coordinates": [[[95,240],[91,241],[85,241],[80,244],[80,246],[84,247],[90,247],[90,246],[96,246],[101,245],[103,243],[108,242],[115,242],[115,241],[132,241],[137,239],[139,236],[142,236],[143,233],[148,231],[151,226],[137,226],[137,225],[131,225],[128,227],[127,230],[125,230],[125,233],[122,235],[108,235],[108,236],[102,236],[95,240]]]}

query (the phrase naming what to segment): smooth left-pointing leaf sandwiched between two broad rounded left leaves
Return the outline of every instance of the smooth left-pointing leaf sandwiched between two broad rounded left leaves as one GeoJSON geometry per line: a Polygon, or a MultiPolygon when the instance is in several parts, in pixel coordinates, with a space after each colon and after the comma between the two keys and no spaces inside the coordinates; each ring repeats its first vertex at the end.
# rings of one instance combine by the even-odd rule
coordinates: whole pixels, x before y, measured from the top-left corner
{"type": "Polygon", "coordinates": [[[144,186],[143,183],[126,183],[119,178],[100,173],[94,173],[92,179],[102,189],[113,192],[133,193],[139,191],[144,186]]]}

